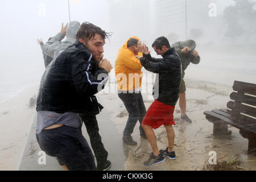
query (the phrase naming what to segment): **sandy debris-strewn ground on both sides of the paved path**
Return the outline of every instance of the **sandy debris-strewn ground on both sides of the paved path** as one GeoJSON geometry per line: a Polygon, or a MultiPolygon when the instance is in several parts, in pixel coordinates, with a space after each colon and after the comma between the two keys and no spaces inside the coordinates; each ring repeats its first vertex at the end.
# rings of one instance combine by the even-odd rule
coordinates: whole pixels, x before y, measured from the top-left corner
{"type": "MultiPolygon", "coordinates": [[[[179,119],[180,109],[175,109],[175,152],[177,159],[166,159],[163,163],[145,167],[143,162],[151,154],[150,144],[139,137],[139,124],[135,126],[133,138],[137,146],[120,145],[114,150],[123,150],[127,158],[124,170],[201,170],[210,158],[210,151],[216,151],[217,159],[233,160],[237,156],[242,159],[241,167],[247,170],[256,169],[256,157],[247,155],[247,139],[242,138],[239,130],[232,130],[231,137],[214,138],[213,124],[205,119],[205,110],[226,108],[229,101],[231,86],[214,84],[211,82],[185,80],[187,85],[187,114],[193,120],[189,124],[179,119]]],[[[115,83],[110,82],[110,86],[115,83]]],[[[28,107],[30,98],[38,93],[38,86],[24,90],[19,96],[0,105],[0,135],[4,140],[0,142],[0,170],[17,170],[22,158],[27,135],[30,132],[35,117],[35,107],[28,107]]],[[[146,109],[151,105],[151,93],[143,94],[146,109]]],[[[114,123],[115,131],[122,136],[127,121],[127,111],[116,93],[97,94],[98,101],[108,110],[108,115],[114,123]]],[[[164,127],[155,130],[159,149],[167,147],[167,135],[164,127]]],[[[104,137],[106,140],[107,138],[104,137]]],[[[108,148],[111,148],[108,147],[108,148]]],[[[112,155],[113,151],[109,150],[112,155]]]]}

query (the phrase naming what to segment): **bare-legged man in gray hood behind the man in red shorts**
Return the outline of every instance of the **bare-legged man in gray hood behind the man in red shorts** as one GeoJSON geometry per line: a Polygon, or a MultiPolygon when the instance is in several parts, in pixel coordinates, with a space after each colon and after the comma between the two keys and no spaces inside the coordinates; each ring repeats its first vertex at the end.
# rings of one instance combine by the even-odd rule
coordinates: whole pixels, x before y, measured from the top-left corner
{"type": "Polygon", "coordinates": [[[185,69],[187,69],[190,63],[192,64],[199,64],[200,63],[200,56],[199,53],[195,50],[196,42],[194,40],[187,40],[184,42],[176,42],[172,44],[172,47],[175,48],[176,52],[181,58],[181,65],[182,65],[182,80],[180,84],[180,91],[179,91],[179,105],[181,110],[181,119],[188,123],[192,123],[191,119],[186,114],[186,97],[185,91],[186,86],[183,80],[185,76],[185,69]]]}

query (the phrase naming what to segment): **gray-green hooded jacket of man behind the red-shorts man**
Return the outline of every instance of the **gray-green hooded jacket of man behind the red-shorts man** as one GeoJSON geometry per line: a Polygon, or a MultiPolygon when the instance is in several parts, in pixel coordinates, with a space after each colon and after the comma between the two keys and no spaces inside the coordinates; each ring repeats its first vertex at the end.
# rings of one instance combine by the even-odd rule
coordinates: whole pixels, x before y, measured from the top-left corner
{"type": "Polygon", "coordinates": [[[199,64],[200,63],[200,56],[195,57],[192,52],[196,48],[196,42],[194,40],[186,40],[184,42],[176,42],[172,44],[172,47],[175,48],[176,52],[181,58],[181,64],[182,64],[182,72],[183,72],[183,78],[185,76],[185,69],[187,69],[188,65],[190,63],[193,64],[199,64]],[[189,51],[187,54],[182,53],[181,49],[183,49],[185,46],[189,47],[191,51],[189,51]]]}

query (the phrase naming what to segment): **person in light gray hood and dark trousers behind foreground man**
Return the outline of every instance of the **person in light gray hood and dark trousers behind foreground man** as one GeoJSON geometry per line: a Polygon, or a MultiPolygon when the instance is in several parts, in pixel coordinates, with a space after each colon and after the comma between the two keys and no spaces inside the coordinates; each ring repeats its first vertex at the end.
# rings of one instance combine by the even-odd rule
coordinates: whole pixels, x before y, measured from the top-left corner
{"type": "MultiPolygon", "coordinates": [[[[81,26],[80,23],[77,21],[72,21],[67,25],[68,26],[61,27],[61,31],[53,37],[53,41],[48,40],[48,42],[46,43],[47,46],[42,43],[42,39],[38,39],[38,43],[40,44],[43,51],[46,51],[46,53],[51,56],[57,57],[61,52],[65,51],[65,49],[67,49],[73,43],[77,42],[76,34],[81,26]],[[65,35],[67,35],[67,40],[61,42],[65,35]]],[[[43,52],[44,63],[47,63],[48,65],[49,63],[51,63],[52,58],[46,55],[46,53],[43,52]]],[[[87,133],[90,138],[90,144],[92,146],[97,161],[97,170],[103,171],[110,168],[111,162],[107,160],[108,151],[105,150],[104,144],[101,141],[96,114],[84,111],[84,113],[80,113],[80,117],[85,124],[87,133]]],[[[63,166],[62,163],[60,163],[60,165],[63,166]]]]}

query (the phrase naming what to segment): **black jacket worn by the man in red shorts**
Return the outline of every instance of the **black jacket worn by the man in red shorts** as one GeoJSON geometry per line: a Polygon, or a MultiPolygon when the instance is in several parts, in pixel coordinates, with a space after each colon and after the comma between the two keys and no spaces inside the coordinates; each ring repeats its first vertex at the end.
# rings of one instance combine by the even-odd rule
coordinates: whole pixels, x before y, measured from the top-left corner
{"type": "Polygon", "coordinates": [[[158,73],[153,89],[153,96],[163,104],[174,106],[179,99],[181,81],[180,57],[174,48],[164,53],[163,59],[155,59],[151,55],[143,55],[141,64],[147,71],[158,73]]]}

